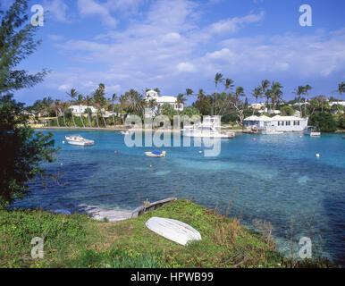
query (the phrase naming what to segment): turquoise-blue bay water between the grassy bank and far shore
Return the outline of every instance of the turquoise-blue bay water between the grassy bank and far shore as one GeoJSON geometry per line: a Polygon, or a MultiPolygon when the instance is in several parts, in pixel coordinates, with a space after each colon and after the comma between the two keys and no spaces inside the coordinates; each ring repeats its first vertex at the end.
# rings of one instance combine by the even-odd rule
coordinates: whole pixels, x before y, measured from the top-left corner
{"type": "Polygon", "coordinates": [[[251,227],[254,219],[271,222],[283,253],[288,252],[293,225],[296,248],[300,237],[311,237],[324,256],[345,265],[345,139],[341,135],[239,134],[222,140],[220,156],[205,157],[198,153],[203,147],[126,147],[118,132],[78,131],[95,140],[93,147],[62,143],[65,135],[75,132],[53,133],[56,146],[63,148],[48,169],[64,173],[63,181],[68,183],[51,183],[49,190],[35,185],[33,193],[15,206],[59,203],[133,209],[146,199],[173,196],[220,211],[231,205],[230,214],[244,225],[251,227]],[[148,157],[147,150],[165,150],[167,156],[148,157]]]}

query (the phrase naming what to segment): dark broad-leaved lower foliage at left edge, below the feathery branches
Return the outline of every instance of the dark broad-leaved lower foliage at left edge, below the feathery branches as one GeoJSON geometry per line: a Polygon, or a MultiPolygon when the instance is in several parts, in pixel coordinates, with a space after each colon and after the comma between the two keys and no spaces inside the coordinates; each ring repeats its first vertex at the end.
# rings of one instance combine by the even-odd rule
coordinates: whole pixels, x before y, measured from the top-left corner
{"type": "Polygon", "coordinates": [[[12,96],[0,100],[0,207],[28,194],[29,181],[46,175],[40,163],[55,160],[53,134],[27,127],[23,111],[12,96]]]}

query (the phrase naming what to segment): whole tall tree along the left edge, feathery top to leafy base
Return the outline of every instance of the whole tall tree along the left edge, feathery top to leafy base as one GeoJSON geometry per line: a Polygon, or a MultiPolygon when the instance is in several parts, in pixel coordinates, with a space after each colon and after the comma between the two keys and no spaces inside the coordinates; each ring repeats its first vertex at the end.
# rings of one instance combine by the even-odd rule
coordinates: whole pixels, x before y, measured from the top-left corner
{"type": "MultiPolygon", "coordinates": [[[[16,0],[0,13],[0,206],[29,193],[29,181],[46,174],[42,162],[53,162],[53,134],[35,132],[26,125],[28,116],[23,104],[9,92],[29,88],[43,80],[46,71],[29,74],[15,70],[31,55],[39,41],[34,39],[37,27],[28,21],[28,1],[16,0]],[[24,28],[21,29],[21,26],[24,28]]],[[[48,100],[47,102],[50,102],[48,100]]]]}

